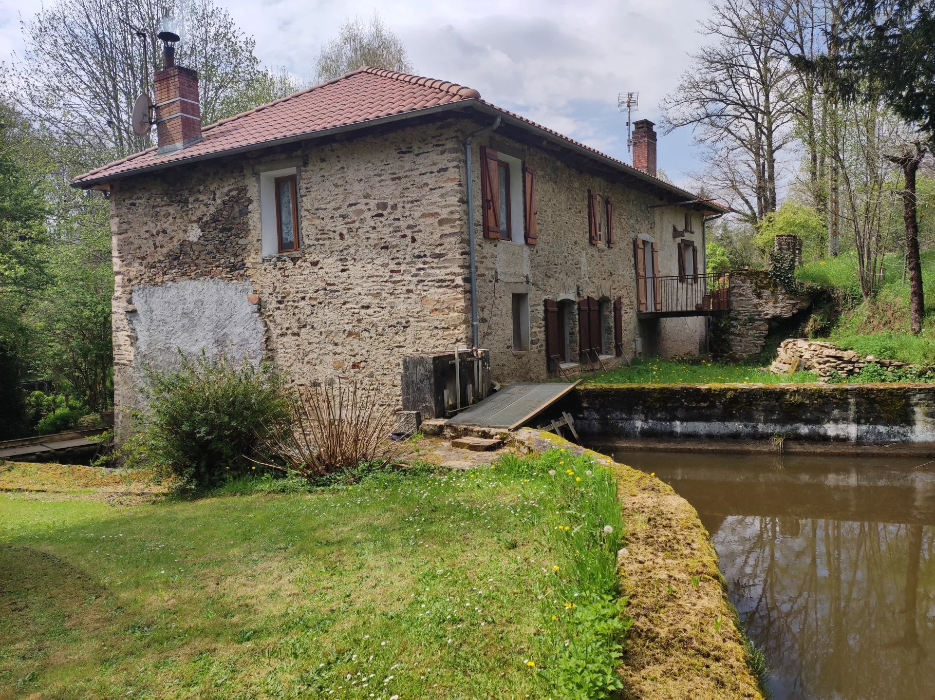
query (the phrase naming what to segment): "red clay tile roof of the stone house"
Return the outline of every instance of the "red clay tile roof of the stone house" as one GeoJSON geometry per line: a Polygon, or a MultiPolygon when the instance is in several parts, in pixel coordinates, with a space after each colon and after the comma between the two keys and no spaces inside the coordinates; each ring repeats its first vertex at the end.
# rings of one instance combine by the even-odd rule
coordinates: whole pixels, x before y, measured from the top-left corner
{"type": "MultiPolygon", "coordinates": [[[[203,160],[224,154],[260,148],[276,141],[311,138],[317,133],[366,125],[376,120],[415,116],[428,109],[454,107],[455,103],[473,102],[483,111],[503,115],[519,126],[531,127],[552,135],[578,151],[628,171],[644,181],[669,192],[694,197],[691,193],[651,177],[621,160],[600,153],[573,139],[481,99],[476,90],[447,80],[432,80],[391,70],[363,67],[306,90],[283,97],[268,105],[241,112],[217,124],[202,128],[202,139],[172,153],[157,153],[150,148],[121,160],[108,163],[75,178],[78,187],[107,182],[140,170],[165,168],[186,161],[203,160]],[[484,109],[485,108],[485,109],[484,109]]],[[[720,206],[714,205],[721,209],[720,206]]]]}

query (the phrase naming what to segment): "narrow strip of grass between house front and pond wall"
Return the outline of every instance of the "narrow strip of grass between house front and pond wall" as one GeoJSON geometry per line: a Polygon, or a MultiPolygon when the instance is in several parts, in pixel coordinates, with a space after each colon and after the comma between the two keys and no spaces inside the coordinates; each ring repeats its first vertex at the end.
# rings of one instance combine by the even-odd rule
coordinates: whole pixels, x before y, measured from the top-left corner
{"type": "Polygon", "coordinates": [[[756,365],[635,357],[631,366],[588,376],[585,384],[790,384],[817,382],[815,372],[773,374],[756,365]]]}

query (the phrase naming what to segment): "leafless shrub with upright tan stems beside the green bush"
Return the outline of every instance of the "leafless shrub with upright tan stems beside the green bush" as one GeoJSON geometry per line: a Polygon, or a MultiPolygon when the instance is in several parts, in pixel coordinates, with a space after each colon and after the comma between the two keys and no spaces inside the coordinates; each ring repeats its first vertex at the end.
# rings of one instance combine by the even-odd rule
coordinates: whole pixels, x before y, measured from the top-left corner
{"type": "Polygon", "coordinates": [[[257,434],[272,457],[257,463],[313,478],[360,465],[380,469],[409,451],[406,441],[390,439],[395,412],[379,392],[338,381],[296,393],[289,419],[257,434]]]}

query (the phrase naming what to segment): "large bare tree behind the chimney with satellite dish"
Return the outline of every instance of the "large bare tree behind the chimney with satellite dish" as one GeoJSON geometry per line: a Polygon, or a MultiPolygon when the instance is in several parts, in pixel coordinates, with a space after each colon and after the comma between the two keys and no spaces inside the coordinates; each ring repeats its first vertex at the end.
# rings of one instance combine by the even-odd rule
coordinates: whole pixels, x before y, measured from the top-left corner
{"type": "Polygon", "coordinates": [[[202,120],[246,109],[240,97],[268,74],[252,37],[212,0],[57,0],[22,22],[26,50],[0,70],[0,95],[85,153],[84,166],[146,148],[149,136],[137,137],[130,117],[161,67],[165,17],[180,27],[180,65],[198,71],[202,120]]]}

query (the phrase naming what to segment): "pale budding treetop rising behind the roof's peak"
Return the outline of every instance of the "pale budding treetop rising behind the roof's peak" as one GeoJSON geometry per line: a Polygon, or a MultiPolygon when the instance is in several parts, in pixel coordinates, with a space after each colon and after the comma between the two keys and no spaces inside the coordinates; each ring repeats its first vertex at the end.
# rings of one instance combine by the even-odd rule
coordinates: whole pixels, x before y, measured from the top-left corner
{"type": "Polygon", "coordinates": [[[406,47],[374,12],[369,22],[359,17],[345,20],[340,33],[322,50],[315,62],[318,80],[334,80],[361,66],[411,73],[406,47]]]}

